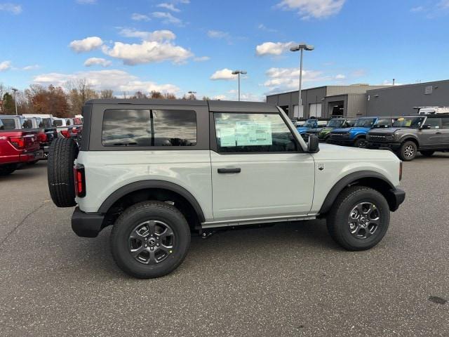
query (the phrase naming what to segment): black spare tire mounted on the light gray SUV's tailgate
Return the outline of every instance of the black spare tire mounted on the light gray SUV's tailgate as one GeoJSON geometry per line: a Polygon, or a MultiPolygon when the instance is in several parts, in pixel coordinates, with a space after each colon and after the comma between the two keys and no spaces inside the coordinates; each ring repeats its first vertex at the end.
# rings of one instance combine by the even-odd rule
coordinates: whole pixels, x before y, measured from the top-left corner
{"type": "Polygon", "coordinates": [[[73,166],[78,146],[72,138],[56,138],[48,152],[48,190],[58,207],[72,207],[75,202],[73,166]]]}

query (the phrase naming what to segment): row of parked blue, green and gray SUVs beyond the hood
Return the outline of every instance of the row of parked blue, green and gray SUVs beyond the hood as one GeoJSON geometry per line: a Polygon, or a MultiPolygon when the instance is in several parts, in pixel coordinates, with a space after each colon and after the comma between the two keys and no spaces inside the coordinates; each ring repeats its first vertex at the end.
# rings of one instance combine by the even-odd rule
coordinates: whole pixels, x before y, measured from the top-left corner
{"type": "Polygon", "coordinates": [[[415,159],[417,152],[425,157],[449,152],[449,113],[308,119],[297,122],[297,131],[304,140],[314,134],[330,144],[391,150],[403,161],[415,159]]]}

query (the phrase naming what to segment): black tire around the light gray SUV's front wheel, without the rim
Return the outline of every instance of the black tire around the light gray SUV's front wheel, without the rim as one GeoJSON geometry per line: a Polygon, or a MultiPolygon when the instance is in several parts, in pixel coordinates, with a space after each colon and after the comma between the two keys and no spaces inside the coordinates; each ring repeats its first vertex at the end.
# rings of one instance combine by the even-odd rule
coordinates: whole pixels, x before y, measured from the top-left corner
{"type": "Polygon", "coordinates": [[[330,210],[326,223],[330,237],[348,251],[363,251],[378,244],[387,233],[390,211],[387,200],[380,192],[365,186],[347,187],[337,197],[330,210]],[[375,204],[380,216],[377,230],[366,239],[358,239],[351,234],[348,218],[357,204],[369,202],[375,204]]]}

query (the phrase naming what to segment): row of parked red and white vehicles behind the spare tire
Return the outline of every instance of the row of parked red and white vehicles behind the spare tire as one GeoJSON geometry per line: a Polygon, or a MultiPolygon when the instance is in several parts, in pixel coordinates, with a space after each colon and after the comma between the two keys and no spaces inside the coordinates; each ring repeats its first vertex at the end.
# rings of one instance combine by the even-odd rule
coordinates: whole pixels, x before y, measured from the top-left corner
{"type": "Polygon", "coordinates": [[[13,173],[24,164],[47,159],[51,142],[58,137],[75,137],[82,123],[82,117],[0,115],[0,176],[13,173]]]}

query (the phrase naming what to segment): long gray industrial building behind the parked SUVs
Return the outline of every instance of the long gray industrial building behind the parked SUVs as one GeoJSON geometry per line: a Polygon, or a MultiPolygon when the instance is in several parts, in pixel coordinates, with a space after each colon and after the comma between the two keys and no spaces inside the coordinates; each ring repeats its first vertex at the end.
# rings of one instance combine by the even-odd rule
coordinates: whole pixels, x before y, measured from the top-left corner
{"type": "Polygon", "coordinates": [[[449,80],[403,86],[320,86],[302,91],[303,112],[298,111],[298,91],[267,95],[267,102],[283,108],[290,117],[394,116],[413,114],[413,107],[449,106],[449,80]]]}

